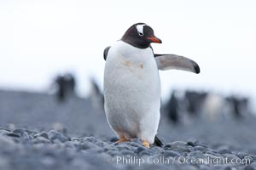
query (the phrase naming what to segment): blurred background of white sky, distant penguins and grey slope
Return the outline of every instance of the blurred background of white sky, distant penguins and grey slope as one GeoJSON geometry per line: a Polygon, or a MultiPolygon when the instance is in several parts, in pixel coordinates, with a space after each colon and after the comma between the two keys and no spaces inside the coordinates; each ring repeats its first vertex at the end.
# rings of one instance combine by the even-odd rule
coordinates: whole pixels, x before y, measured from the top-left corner
{"type": "Polygon", "coordinates": [[[103,50],[144,22],[163,41],[153,44],[156,54],[183,55],[201,67],[199,75],[160,71],[161,138],[237,150],[246,144],[256,153],[249,147],[256,139],[255,8],[253,0],[2,0],[0,126],[111,139],[103,50]]]}

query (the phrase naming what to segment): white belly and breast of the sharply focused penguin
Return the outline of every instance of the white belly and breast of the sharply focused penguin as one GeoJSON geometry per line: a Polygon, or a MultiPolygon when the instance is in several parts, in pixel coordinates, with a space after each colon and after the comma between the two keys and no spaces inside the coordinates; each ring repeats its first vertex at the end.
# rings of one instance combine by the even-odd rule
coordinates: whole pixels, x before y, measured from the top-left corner
{"type": "Polygon", "coordinates": [[[113,44],[104,71],[104,99],[108,123],[120,138],[154,142],[160,122],[160,77],[151,48],[113,44]]]}

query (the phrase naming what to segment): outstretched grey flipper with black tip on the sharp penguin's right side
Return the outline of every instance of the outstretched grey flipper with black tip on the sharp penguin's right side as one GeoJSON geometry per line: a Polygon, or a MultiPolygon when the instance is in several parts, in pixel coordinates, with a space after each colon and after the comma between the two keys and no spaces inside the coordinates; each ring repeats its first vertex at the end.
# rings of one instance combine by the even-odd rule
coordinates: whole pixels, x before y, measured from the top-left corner
{"type": "Polygon", "coordinates": [[[194,60],[176,54],[154,54],[157,67],[161,71],[176,69],[200,73],[200,68],[194,60]]]}

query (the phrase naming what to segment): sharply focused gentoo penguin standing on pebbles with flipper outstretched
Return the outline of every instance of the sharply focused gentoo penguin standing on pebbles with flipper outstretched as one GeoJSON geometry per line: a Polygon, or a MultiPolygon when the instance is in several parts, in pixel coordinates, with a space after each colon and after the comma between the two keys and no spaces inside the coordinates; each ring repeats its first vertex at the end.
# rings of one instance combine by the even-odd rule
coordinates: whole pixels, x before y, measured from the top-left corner
{"type": "Polygon", "coordinates": [[[160,122],[158,70],[200,72],[191,59],[154,54],[151,42],[161,43],[161,40],[154,36],[150,26],[137,23],[104,50],[104,108],[109,126],[119,137],[118,144],[137,138],[149,148],[149,144],[158,140],[155,138],[160,122]]]}

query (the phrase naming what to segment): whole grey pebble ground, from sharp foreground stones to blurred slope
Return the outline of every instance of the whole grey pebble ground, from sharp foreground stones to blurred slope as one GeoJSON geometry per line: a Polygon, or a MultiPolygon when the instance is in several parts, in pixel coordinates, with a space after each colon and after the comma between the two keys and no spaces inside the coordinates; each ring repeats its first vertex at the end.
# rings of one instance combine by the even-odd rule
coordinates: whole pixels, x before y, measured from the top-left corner
{"type": "Polygon", "coordinates": [[[164,147],[114,144],[104,112],[87,99],[0,91],[0,169],[256,169],[255,118],[173,125],[164,147]]]}

